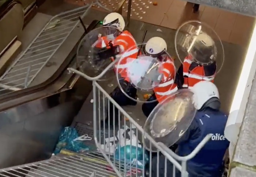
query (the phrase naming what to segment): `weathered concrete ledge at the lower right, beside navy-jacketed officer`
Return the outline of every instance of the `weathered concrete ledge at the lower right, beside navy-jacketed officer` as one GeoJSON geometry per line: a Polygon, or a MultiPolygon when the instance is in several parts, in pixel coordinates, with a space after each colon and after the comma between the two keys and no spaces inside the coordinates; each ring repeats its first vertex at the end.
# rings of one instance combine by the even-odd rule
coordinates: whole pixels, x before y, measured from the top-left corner
{"type": "Polygon", "coordinates": [[[238,142],[230,163],[230,177],[256,176],[256,81],[246,105],[238,142]]]}

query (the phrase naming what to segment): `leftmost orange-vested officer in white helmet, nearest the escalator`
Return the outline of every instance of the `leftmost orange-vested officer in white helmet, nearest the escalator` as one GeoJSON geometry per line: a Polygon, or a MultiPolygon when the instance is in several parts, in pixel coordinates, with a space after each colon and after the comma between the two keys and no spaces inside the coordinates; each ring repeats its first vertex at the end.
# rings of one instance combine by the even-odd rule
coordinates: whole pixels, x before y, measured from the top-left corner
{"type": "MultiPolygon", "coordinates": [[[[126,50],[131,49],[131,47],[136,46],[136,41],[133,38],[132,34],[124,30],[125,28],[125,21],[122,15],[112,12],[108,14],[104,20],[103,20],[103,26],[113,26],[116,27],[118,30],[121,31],[120,35],[118,35],[113,41],[111,41],[112,46],[118,46],[119,47],[119,54],[122,55],[126,50]]],[[[130,55],[136,59],[138,50],[132,50],[133,53],[130,55]]],[[[130,57],[131,57],[130,56],[130,57]]],[[[113,60],[113,59],[112,59],[113,60]]],[[[123,60],[124,61],[124,60],[123,60]]],[[[124,63],[122,63],[125,65],[124,63]]],[[[121,72],[117,68],[117,63],[114,66],[115,72],[118,72],[119,74],[122,75],[123,77],[123,72],[121,72]]],[[[127,80],[125,80],[125,77],[123,80],[119,81],[121,87],[123,90],[133,99],[136,99],[136,88],[134,88],[127,80]]],[[[112,93],[110,93],[110,96],[114,99],[114,101],[117,102],[118,105],[120,106],[125,106],[125,105],[136,105],[137,102],[129,99],[127,96],[124,95],[124,93],[121,91],[121,89],[117,86],[112,93]]],[[[118,125],[118,109],[114,108],[113,112],[113,104],[110,102],[109,103],[109,113],[106,113],[106,119],[105,119],[105,125],[108,125],[110,123],[110,126],[118,125]],[[109,116],[110,117],[109,117],[109,116]],[[113,118],[113,115],[114,118],[113,118]],[[114,121],[115,120],[115,121],[114,121]]],[[[103,123],[101,123],[103,125],[103,123]]]]}

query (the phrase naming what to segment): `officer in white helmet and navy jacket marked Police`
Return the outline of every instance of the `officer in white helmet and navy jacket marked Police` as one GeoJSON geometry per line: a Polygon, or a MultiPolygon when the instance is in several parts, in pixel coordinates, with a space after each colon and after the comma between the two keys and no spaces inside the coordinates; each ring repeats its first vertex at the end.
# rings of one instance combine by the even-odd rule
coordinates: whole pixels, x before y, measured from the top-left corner
{"type": "MultiPolygon", "coordinates": [[[[194,93],[194,105],[197,109],[188,130],[178,140],[176,153],[179,156],[190,154],[207,134],[212,134],[209,142],[199,153],[187,162],[189,177],[221,177],[223,172],[223,157],[229,147],[229,141],[224,136],[227,116],[221,112],[219,92],[210,81],[200,81],[191,90],[194,93]]],[[[172,164],[167,162],[167,176],[173,174],[172,164]]],[[[159,177],[164,177],[165,157],[159,157],[159,177]]],[[[176,177],[180,176],[177,172],[176,177]]],[[[153,159],[152,177],[157,176],[157,157],[153,159]]]]}

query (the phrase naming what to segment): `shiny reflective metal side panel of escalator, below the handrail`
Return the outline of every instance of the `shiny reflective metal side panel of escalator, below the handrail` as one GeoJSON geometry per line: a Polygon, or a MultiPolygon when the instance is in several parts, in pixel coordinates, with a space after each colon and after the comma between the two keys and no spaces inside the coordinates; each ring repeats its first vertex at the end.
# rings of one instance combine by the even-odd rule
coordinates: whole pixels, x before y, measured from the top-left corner
{"type": "Polygon", "coordinates": [[[52,107],[48,98],[0,112],[0,168],[49,158],[63,127],[79,109],[76,100],[52,107]]]}

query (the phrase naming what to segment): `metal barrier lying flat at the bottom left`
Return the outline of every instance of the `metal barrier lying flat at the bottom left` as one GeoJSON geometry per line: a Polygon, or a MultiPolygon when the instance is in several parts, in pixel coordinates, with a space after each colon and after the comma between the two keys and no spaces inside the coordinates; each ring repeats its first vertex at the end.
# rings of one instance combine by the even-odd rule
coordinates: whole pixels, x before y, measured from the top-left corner
{"type": "Polygon", "coordinates": [[[0,170],[1,177],[86,177],[96,172],[96,177],[115,177],[108,162],[99,153],[55,157],[0,170]]]}

